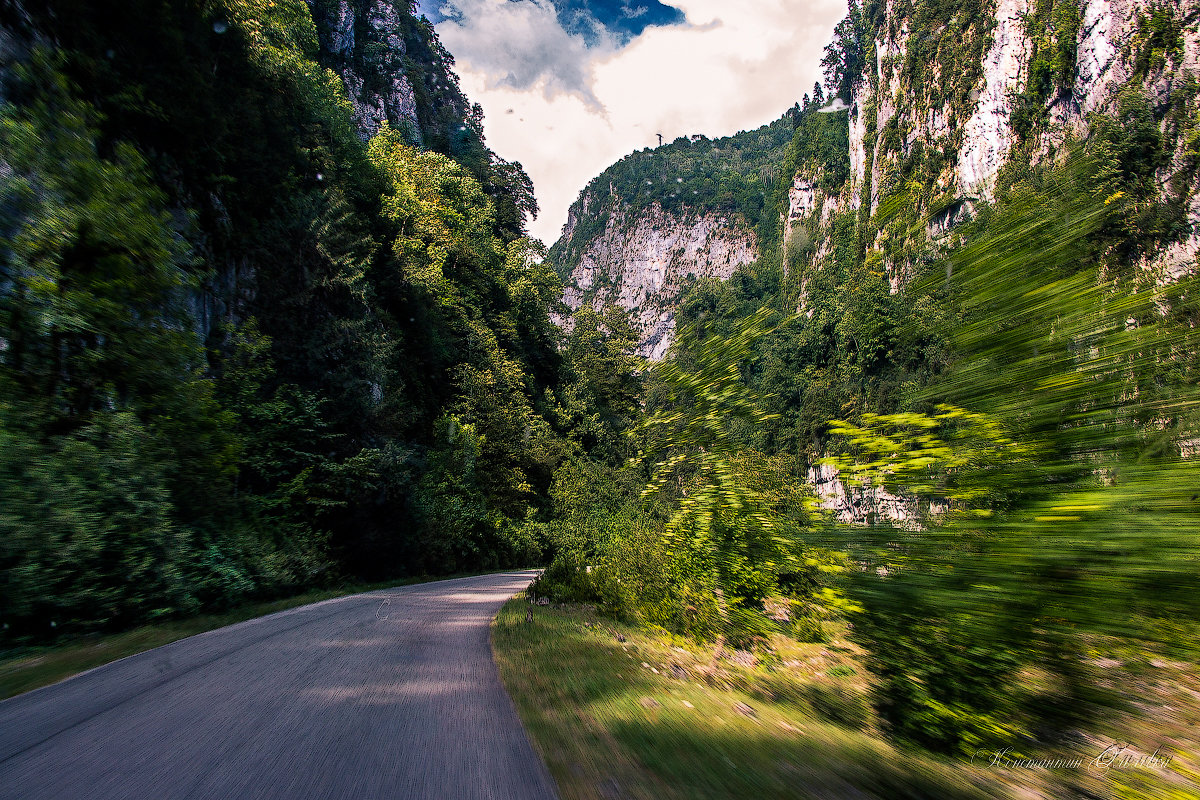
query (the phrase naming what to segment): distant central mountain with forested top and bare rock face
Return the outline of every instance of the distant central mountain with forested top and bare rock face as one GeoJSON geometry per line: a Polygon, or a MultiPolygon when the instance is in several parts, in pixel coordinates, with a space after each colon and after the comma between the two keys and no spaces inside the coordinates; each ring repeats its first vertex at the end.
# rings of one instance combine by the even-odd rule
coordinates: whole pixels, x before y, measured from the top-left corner
{"type": "Polygon", "coordinates": [[[689,279],[730,277],[758,257],[763,231],[773,236],[790,120],[721,139],[680,137],[589,182],[548,257],[566,306],[631,311],[638,353],[661,359],[689,279]]]}

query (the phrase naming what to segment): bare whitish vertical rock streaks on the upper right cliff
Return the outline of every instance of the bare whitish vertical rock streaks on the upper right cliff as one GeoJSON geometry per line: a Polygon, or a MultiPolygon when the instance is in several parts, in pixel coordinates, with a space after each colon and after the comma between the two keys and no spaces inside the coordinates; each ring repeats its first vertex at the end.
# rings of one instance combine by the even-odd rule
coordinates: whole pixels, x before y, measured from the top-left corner
{"type": "MultiPolygon", "coordinates": [[[[1129,86],[1135,70],[1133,60],[1138,55],[1140,18],[1148,17],[1157,0],[1085,0],[1081,25],[1076,38],[1074,83],[1063,92],[1046,102],[1049,124],[1040,133],[1036,158],[1052,157],[1068,139],[1086,138],[1093,114],[1115,110],[1121,91],[1129,86]]],[[[1187,19],[1194,13],[1190,0],[1168,0],[1177,18],[1187,19]]],[[[1013,96],[1026,88],[1031,42],[1026,30],[1027,17],[1034,12],[1032,0],[995,0],[992,6],[990,44],[983,54],[983,76],[972,94],[974,107],[955,130],[944,115],[946,109],[922,108],[919,103],[905,112],[901,128],[908,130],[902,143],[907,156],[920,140],[926,149],[936,149],[940,143],[961,136],[956,158],[948,163],[937,186],[955,194],[962,203],[978,199],[990,200],[1000,170],[1008,163],[1016,136],[1013,128],[1013,96]]],[[[886,122],[901,106],[899,92],[908,91],[900,80],[900,65],[907,52],[911,31],[895,5],[887,5],[887,19],[881,30],[893,31],[877,40],[875,64],[868,66],[866,77],[854,89],[851,103],[850,157],[851,180],[838,193],[841,207],[858,207],[870,203],[874,212],[880,201],[883,170],[880,166],[881,143],[886,122]],[[869,125],[866,109],[874,108],[875,125],[869,125]],[[868,131],[874,127],[874,139],[868,131]],[[868,158],[868,154],[874,154],[868,158]],[[868,163],[870,162],[870,163],[868,163]],[[863,197],[868,176],[871,178],[869,198],[863,197]]],[[[1175,92],[1188,80],[1200,77],[1200,26],[1194,23],[1183,26],[1183,58],[1170,67],[1152,71],[1140,86],[1152,103],[1165,106],[1175,92]]],[[[1200,100],[1193,98],[1193,114],[1200,113],[1200,100]]],[[[1183,142],[1171,167],[1158,175],[1166,188],[1171,173],[1183,158],[1183,142]]],[[[803,167],[802,167],[803,170],[803,167]]],[[[800,190],[802,178],[797,176],[796,188],[800,190]]],[[[1195,198],[1188,198],[1189,222],[1200,223],[1195,198]]],[[[793,191],[790,219],[794,222],[805,209],[820,205],[821,199],[805,197],[793,191]]],[[[944,233],[944,231],[943,231],[944,233]]],[[[1200,254],[1200,231],[1193,230],[1187,241],[1164,249],[1154,264],[1165,276],[1177,277],[1181,270],[1194,269],[1200,254]]],[[[902,279],[902,276],[898,276],[902,279]]]]}

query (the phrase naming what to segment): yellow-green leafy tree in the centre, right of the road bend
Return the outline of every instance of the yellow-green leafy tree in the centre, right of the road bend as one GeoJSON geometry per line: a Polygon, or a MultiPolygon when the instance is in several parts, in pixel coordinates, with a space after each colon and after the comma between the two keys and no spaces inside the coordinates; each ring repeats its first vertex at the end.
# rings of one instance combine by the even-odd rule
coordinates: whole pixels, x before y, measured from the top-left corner
{"type": "Polygon", "coordinates": [[[779,593],[780,576],[800,571],[804,516],[794,500],[772,500],[767,488],[775,481],[760,471],[761,456],[739,453],[731,429],[770,419],[739,368],[768,333],[770,315],[760,309],[732,332],[700,342],[696,331],[680,331],[688,349],[655,368],[661,408],[642,423],[640,456],[653,463],[643,497],[678,492],[666,525],[668,547],[684,565],[678,579],[713,593],[722,625],[742,638],[752,638],[754,610],[779,593]]]}

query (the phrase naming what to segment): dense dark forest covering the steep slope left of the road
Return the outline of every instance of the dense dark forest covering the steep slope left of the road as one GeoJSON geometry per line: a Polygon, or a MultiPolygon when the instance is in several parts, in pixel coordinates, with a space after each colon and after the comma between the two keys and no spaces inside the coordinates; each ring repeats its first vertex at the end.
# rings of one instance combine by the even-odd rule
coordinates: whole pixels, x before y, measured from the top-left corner
{"type": "Polygon", "coordinates": [[[4,5],[5,643],[548,552],[611,401],[529,180],[412,4],[348,54],[334,11],[4,5]],[[364,130],[335,67],[413,114],[364,130]]]}

